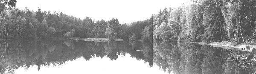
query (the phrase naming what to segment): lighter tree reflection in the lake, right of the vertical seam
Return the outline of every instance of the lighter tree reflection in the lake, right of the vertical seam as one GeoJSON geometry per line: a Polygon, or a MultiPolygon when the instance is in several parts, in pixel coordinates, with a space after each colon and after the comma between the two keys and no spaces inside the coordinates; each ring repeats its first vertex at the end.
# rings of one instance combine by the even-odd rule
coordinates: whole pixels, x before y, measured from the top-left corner
{"type": "Polygon", "coordinates": [[[174,74],[249,74],[251,69],[242,68],[230,57],[241,51],[216,48],[194,43],[154,41],[154,63],[163,71],[174,74]]]}

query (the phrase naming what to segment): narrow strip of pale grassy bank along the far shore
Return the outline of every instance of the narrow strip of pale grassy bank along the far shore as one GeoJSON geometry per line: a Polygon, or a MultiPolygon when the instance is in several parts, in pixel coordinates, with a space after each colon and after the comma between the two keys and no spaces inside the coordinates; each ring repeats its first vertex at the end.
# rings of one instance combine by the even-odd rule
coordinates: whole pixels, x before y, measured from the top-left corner
{"type": "MultiPolygon", "coordinates": [[[[94,42],[108,42],[108,38],[79,38],[79,37],[72,37],[72,38],[67,38],[66,40],[83,40],[83,41],[94,41],[94,42]]],[[[123,39],[116,39],[116,41],[123,41],[123,39]]]]}

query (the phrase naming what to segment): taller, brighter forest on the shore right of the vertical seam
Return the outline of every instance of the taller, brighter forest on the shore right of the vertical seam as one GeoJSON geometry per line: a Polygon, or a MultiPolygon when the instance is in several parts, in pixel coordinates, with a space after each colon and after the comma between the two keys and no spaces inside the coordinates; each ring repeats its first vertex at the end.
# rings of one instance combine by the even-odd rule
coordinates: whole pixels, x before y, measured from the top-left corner
{"type": "Polygon", "coordinates": [[[256,0],[192,0],[153,20],[154,40],[256,42],[256,0]]]}

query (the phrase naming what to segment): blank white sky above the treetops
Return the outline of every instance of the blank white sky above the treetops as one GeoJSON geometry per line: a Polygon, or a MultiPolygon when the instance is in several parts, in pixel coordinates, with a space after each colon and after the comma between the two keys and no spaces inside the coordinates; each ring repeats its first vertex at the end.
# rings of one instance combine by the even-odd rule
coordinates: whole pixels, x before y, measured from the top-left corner
{"type": "Polygon", "coordinates": [[[90,17],[92,20],[111,20],[117,18],[119,23],[132,23],[146,20],[165,7],[181,6],[187,0],[17,0],[17,8],[37,11],[62,11],[80,19],[90,17]]]}

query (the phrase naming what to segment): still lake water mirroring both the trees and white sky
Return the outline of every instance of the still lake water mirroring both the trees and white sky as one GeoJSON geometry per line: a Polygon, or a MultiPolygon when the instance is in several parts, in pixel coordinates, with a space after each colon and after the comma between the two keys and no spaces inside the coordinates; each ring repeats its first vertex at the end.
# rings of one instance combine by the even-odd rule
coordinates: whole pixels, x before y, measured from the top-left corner
{"type": "Polygon", "coordinates": [[[251,74],[250,52],[193,43],[0,42],[1,74],[251,74]]]}

